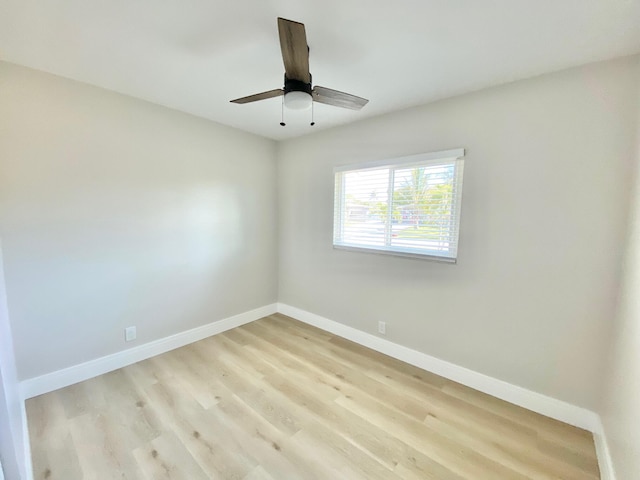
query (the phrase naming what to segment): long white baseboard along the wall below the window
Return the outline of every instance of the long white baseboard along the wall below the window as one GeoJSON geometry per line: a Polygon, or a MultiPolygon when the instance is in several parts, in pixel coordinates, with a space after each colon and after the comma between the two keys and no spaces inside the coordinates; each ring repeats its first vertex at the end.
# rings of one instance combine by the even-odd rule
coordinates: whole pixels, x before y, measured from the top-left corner
{"type": "Polygon", "coordinates": [[[602,431],[600,417],[585,408],[460,367],[284,303],[278,303],[278,312],[547,417],[590,432],[602,431]]]}

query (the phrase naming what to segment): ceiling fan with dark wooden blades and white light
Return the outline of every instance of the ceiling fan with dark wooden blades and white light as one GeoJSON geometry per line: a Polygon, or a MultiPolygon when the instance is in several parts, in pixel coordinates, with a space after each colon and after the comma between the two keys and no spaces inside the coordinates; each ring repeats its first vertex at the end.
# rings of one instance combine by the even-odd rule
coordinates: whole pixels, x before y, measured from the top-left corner
{"type": "Polygon", "coordinates": [[[309,47],[304,24],[278,18],[278,32],[284,61],[284,88],[236,98],[231,100],[231,103],[251,103],[284,95],[284,105],[293,110],[306,110],[313,102],[360,110],[369,102],[365,98],[331,88],[318,85],[312,87],[311,73],[309,73],[309,47]]]}

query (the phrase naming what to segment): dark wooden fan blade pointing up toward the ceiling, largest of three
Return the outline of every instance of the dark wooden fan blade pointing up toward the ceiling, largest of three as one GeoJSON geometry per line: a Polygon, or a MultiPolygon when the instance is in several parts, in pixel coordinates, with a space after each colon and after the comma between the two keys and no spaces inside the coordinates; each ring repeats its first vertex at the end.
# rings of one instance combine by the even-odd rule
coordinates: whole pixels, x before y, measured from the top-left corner
{"type": "Polygon", "coordinates": [[[309,73],[309,47],[304,24],[278,18],[278,32],[280,34],[280,50],[284,71],[290,80],[311,83],[309,73]]]}

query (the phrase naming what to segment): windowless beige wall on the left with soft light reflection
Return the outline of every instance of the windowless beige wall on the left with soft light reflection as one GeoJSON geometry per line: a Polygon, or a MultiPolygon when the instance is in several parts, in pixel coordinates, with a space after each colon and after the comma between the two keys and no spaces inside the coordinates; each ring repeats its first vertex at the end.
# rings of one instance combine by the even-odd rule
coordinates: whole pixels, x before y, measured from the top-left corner
{"type": "Polygon", "coordinates": [[[21,379],[276,301],[274,142],[7,63],[0,111],[21,379]]]}

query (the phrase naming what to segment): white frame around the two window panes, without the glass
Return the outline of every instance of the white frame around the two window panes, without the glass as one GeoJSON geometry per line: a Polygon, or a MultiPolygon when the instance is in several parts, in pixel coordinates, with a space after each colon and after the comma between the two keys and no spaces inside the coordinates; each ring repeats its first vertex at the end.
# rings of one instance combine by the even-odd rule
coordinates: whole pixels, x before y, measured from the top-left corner
{"type": "MultiPolygon", "coordinates": [[[[458,257],[458,243],[460,232],[460,214],[462,207],[462,180],[464,171],[464,155],[465,150],[463,148],[445,150],[441,152],[422,153],[418,155],[411,155],[408,157],[400,157],[394,159],[379,160],[374,162],[342,165],[334,168],[335,178],[335,194],[334,194],[334,222],[333,222],[333,247],[340,250],[350,250],[359,252],[377,253],[383,255],[396,255],[401,257],[419,258],[426,260],[436,260],[440,262],[456,263],[458,257]],[[451,218],[453,220],[452,226],[449,231],[449,238],[453,239],[452,243],[448,243],[447,251],[442,249],[426,249],[426,248],[411,248],[407,246],[392,245],[391,240],[391,220],[389,219],[385,224],[385,235],[388,235],[388,239],[385,240],[387,245],[385,246],[370,246],[365,244],[359,244],[357,242],[348,242],[343,240],[343,231],[345,225],[345,173],[365,170],[375,170],[388,168],[389,185],[388,199],[393,196],[394,185],[394,173],[396,170],[416,167],[432,167],[437,165],[453,165],[454,166],[454,191],[452,198],[452,211],[451,218]],[[452,245],[453,244],[453,245],[452,245]]],[[[388,209],[389,217],[391,217],[392,209],[388,209]]]]}

